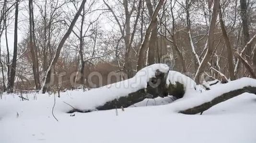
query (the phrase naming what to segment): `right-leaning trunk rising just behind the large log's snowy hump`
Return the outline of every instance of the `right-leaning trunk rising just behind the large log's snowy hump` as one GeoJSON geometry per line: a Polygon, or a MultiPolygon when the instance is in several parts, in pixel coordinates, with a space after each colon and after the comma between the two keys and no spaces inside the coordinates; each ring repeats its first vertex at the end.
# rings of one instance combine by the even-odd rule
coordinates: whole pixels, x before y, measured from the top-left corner
{"type": "Polygon", "coordinates": [[[140,45],[140,52],[139,52],[139,57],[138,57],[138,65],[137,65],[137,71],[139,71],[140,69],[142,69],[143,67],[145,67],[146,65],[146,61],[147,61],[147,54],[146,51],[149,48],[149,38],[150,38],[150,34],[153,28],[153,21],[156,20],[157,18],[157,14],[161,8],[161,6],[163,5],[163,1],[164,0],[160,0],[159,3],[157,4],[152,17],[151,17],[151,21],[150,24],[146,30],[145,33],[145,37],[143,42],[140,45]]]}

